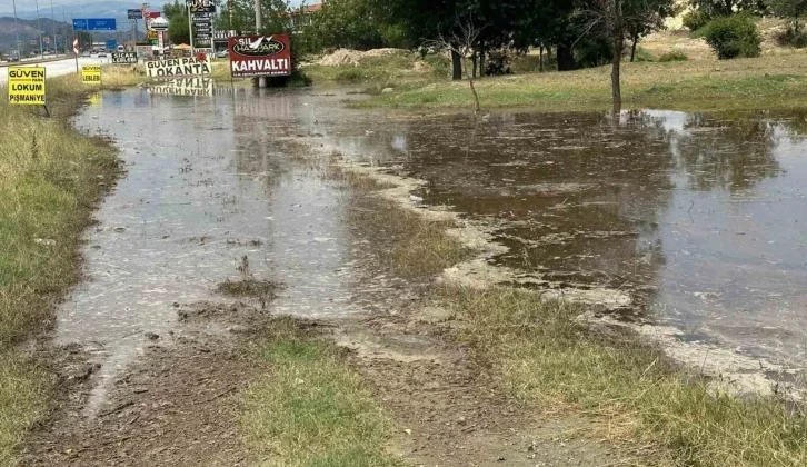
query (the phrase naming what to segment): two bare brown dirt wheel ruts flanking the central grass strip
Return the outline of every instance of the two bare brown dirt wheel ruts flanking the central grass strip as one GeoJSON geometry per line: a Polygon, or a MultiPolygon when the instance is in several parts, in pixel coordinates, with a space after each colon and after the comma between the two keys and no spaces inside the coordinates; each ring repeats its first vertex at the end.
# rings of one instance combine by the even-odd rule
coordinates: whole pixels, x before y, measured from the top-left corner
{"type": "MultiPolygon", "coordinates": [[[[243,305],[178,308],[185,328],[143,336],[143,356],[114,380],[94,418],[83,414],[90,376],[74,351],[51,423],[29,440],[23,466],[251,466],[236,396],[263,369],[249,347],[266,311],[243,305]],[[211,331],[215,329],[215,331],[211,331]]],[[[323,324],[352,351],[349,365],[400,427],[390,449],[419,466],[606,466],[618,451],[586,421],[521,407],[455,346],[432,309],[323,324]]]]}

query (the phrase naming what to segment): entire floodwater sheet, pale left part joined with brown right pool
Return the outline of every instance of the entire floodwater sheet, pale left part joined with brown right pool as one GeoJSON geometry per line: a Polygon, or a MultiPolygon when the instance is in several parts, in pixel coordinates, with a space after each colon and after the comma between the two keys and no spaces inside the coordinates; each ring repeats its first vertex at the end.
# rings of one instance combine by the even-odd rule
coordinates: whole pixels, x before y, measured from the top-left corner
{"type": "MultiPolygon", "coordinates": [[[[343,96],[108,92],[77,118],[122,149],[128,175],[88,235],[89,278],[58,340],[88,346],[106,385],[177,309],[223,300],[248,274],[282,285],[272,312],[338,318],[397,288],[358,265],[351,193],[290,140],[424,179],[417,193],[490,227],[521,287],[607,287],[619,316],[799,367],[807,344],[807,113],[665,111],[407,116],[343,96]]],[[[210,332],[221,329],[211,328],[210,332]]]]}

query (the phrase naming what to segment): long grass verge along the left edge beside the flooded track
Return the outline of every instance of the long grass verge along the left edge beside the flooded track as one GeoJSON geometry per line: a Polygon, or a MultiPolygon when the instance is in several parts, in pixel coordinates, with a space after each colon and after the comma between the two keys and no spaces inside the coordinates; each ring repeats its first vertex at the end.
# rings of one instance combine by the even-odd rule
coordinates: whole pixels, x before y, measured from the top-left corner
{"type": "MultiPolygon", "coordinates": [[[[140,79],[117,69],[106,77],[101,89],[140,79]]],[[[50,119],[0,101],[0,465],[13,463],[26,430],[48,410],[43,374],[16,345],[49,327],[78,281],[82,232],[119,173],[111,145],[66,119],[97,89],[76,76],[49,79],[50,119]]]]}

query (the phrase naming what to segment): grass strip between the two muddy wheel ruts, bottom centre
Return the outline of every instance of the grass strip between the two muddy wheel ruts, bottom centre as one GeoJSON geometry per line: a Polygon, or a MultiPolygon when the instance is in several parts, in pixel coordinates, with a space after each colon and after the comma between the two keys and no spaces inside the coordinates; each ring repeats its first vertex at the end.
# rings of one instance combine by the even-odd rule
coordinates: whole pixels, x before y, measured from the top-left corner
{"type": "Polygon", "coordinates": [[[241,424],[263,459],[282,467],[392,467],[392,424],[336,346],[307,336],[290,318],[270,325],[257,349],[268,375],[241,396],[241,424]]]}

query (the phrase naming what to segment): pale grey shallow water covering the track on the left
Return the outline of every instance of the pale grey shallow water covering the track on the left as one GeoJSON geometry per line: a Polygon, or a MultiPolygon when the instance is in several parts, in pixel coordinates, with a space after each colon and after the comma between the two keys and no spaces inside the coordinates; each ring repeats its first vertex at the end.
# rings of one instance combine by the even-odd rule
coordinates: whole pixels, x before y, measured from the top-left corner
{"type": "Polygon", "coordinates": [[[104,93],[76,119],[113,138],[127,170],[88,234],[88,280],[58,316],[58,341],[101,364],[88,415],[153,335],[159,344],[180,332],[179,309],[230,300],[215,292],[227,279],[280,284],[267,312],[311,318],[363,312],[357,290],[387,289],[357,266],[365,245],[346,229],[350,193],[281,141],[293,136],[296,99],[130,90],[104,93]],[[238,270],[245,257],[248,270],[238,270]]]}

